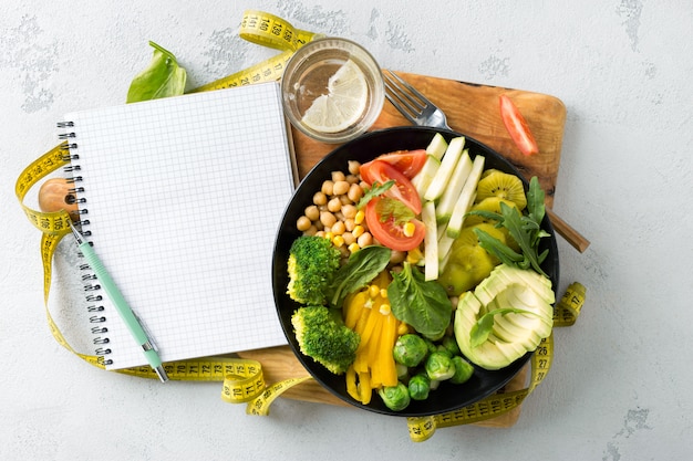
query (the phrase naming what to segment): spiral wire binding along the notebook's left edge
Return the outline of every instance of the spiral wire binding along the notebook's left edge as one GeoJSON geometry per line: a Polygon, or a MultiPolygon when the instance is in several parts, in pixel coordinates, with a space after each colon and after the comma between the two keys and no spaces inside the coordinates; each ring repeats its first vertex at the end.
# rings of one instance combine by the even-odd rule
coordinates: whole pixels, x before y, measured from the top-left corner
{"type": "MultiPolygon", "coordinates": [[[[65,132],[60,133],[58,135],[59,139],[65,142],[63,144],[63,160],[69,161],[70,164],[63,167],[68,182],[74,185],[69,189],[69,192],[77,197],[75,199],[76,203],[86,203],[86,199],[80,195],[85,192],[84,187],[80,185],[83,178],[80,176],[80,171],[82,170],[81,165],[79,164],[80,155],[77,150],[77,143],[75,138],[77,137],[76,133],[72,129],[74,128],[73,122],[59,122],[58,128],[65,129],[65,132]]],[[[79,207],[80,219],[75,222],[80,226],[82,234],[85,237],[91,237],[92,232],[89,229],[90,222],[89,219],[84,219],[83,216],[89,213],[89,210],[84,207],[79,207]]],[[[84,292],[86,300],[86,311],[90,314],[89,322],[90,324],[94,324],[92,326],[91,332],[94,335],[92,338],[92,343],[94,344],[94,353],[99,357],[99,363],[101,365],[112,365],[113,360],[106,358],[108,354],[111,354],[111,349],[104,345],[107,345],[111,340],[107,337],[108,327],[106,326],[106,316],[104,315],[104,306],[101,304],[104,297],[99,293],[101,291],[101,285],[99,284],[99,280],[96,275],[91,272],[91,268],[89,264],[81,264],[80,270],[84,271],[82,274],[82,282],[84,283],[84,292]]]]}

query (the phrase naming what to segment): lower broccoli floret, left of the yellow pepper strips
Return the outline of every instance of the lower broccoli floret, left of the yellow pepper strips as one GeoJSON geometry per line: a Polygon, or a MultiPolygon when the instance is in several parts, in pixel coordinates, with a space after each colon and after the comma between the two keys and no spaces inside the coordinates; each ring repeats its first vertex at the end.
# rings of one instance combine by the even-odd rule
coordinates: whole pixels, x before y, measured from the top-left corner
{"type": "Polygon", "coordinates": [[[356,358],[361,336],[344,325],[341,311],[299,307],[291,316],[291,324],[301,352],[333,374],[343,374],[356,358]]]}

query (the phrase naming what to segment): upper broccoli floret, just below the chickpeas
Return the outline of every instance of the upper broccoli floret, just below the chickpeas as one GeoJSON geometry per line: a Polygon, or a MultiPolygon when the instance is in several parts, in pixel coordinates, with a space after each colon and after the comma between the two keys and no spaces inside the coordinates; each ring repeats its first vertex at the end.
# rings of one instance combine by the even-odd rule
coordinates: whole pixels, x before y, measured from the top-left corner
{"type": "Polygon", "coordinates": [[[301,304],[325,302],[325,290],[340,266],[341,253],[330,240],[301,235],[289,249],[287,293],[301,304]]]}

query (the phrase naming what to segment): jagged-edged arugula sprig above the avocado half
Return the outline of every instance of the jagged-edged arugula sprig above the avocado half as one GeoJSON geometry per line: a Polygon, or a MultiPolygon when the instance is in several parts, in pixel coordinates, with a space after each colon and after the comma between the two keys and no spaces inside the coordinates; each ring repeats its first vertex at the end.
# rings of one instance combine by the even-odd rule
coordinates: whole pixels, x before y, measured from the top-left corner
{"type": "Polygon", "coordinates": [[[480,229],[474,229],[479,239],[479,245],[501,262],[519,268],[534,269],[541,275],[547,275],[541,269],[541,263],[548,256],[548,249],[539,254],[539,243],[542,238],[550,234],[541,229],[541,220],[546,213],[544,205],[544,190],[539,186],[537,177],[529,181],[527,192],[527,214],[523,214],[517,208],[500,202],[500,213],[493,211],[469,211],[467,214],[477,214],[486,219],[498,221],[496,227],[505,227],[508,233],[521,250],[521,254],[510,249],[498,239],[489,235],[480,229]]]}

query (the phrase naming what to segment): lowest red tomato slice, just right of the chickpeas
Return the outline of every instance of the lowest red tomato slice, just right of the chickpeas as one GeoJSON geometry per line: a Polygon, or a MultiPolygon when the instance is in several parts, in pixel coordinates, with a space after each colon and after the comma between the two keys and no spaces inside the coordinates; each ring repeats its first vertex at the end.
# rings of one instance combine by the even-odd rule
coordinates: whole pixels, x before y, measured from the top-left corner
{"type": "Polygon", "coordinates": [[[395,217],[383,218],[377,212],[380,198],[373,198],[365,207],[365,223],[371,234],[383,245],[396,251],[410,251],[423,242],[426,234],[426,227],[420,220],[410,220],[414,224],[412,237],[404,234],[403,224],[396,222],[395,217]]]}

